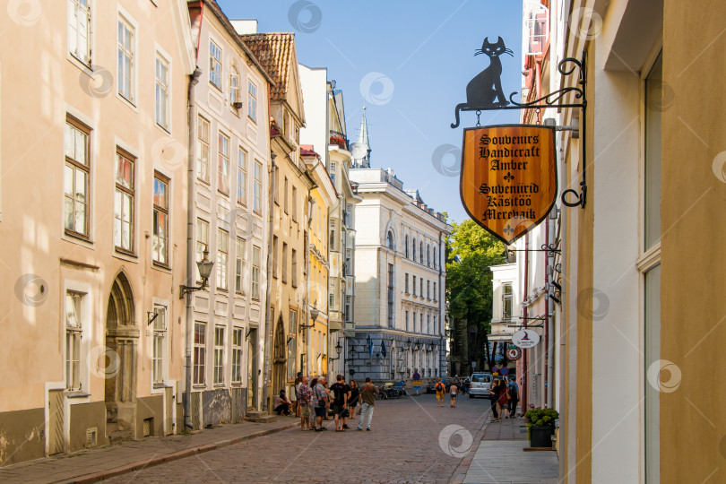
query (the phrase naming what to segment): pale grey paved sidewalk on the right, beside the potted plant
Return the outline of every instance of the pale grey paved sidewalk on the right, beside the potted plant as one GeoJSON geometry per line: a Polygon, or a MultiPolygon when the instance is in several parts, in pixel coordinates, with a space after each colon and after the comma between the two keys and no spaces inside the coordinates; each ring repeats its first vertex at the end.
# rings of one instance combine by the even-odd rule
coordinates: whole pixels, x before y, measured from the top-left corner
{"type": "MultiPolygon", "coordinates": [[[[480,484],[554,484],[558,461],[554,451],[523,452],[530,443],[524,419],[502,419],[489,422],[471,460],[464,459],[454,474],[453,482],[480,484]],[[464,474],[465,472],[465,474],[464,474]]],[[[469,457],[469,456],[468,456],[469,457]]]]}

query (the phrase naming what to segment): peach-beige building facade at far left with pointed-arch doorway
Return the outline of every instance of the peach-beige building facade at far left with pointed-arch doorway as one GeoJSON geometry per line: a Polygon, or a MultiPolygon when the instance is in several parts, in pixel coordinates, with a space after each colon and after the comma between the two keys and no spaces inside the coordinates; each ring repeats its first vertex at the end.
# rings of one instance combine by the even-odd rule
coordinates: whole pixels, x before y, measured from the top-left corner
{"type": "Polygon", "coordinates": [[[35,24],[0,25],[24,46],[0,65],[0,326],[12,341],[0,462],[175,433],[186,3],[46,2],[35,24]]]}

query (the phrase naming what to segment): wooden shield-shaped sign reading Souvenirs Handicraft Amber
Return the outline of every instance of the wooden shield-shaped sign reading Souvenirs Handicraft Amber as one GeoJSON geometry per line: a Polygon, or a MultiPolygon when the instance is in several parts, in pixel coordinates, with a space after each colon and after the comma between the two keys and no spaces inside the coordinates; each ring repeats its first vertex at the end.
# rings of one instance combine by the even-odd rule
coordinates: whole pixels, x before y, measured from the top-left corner
{"type": "Polygon", "coordinates": [[[463,132],[462,203],[509,245],[544,220],[557,198],[555,127],[496,125],[463,132]]]}

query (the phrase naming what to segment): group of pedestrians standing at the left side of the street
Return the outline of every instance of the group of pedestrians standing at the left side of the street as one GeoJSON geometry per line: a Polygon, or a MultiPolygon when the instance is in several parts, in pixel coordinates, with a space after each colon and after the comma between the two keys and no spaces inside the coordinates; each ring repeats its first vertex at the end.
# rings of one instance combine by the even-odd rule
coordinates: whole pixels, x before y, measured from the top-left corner
{"type": "Polygon", "coordinates": [[[316,432],[326,430],[323,420],[327,419],[328,411],[333,411],[335,431],[344,432],[349,429],[348,419],[355,419],[358,410],[357,430],[363,430],[365,424],[366,430],[370,431],[376,393],[378,393],[378,388],[371,383],[370,378],[366,378],[365,385],[359,387],[355,380],[345,383],[343,376],[338,375],[335,377],[335,383],[328,387],[324,376],[310,381],[307,376],[298,374],[295,393],[298,397],[297,415],[300,417],[301,430],[310,429],[316,432]]]}

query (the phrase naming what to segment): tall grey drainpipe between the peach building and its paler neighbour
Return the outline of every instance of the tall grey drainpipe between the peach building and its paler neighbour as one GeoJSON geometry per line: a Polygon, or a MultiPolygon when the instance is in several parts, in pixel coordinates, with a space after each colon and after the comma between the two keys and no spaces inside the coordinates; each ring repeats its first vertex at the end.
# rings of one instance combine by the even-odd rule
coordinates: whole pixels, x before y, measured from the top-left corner
{"type": "MultiPolygon", "coordinates": [[[[186,93],[186,125],[187,130],[187,169],[186,169],[186,285],[194,286],[194,274],[196,273],[196,264],[194,264],[194,157],[196,150],[194,142],[196,140],[196,123],[194,117],[194,86],[199,82],[199,76],[202,71],[199,67],[194,68],[194,73],[189,76],[189,88],[186,93]]],[[[192,307],[192,298],[194,294],[189,292],[186,294],[186,333],[185,333],[185,387],[184,387],[184,428],[193,428],[192,425],[192,329],[194,321],[194,308],[192,307]]]]}

